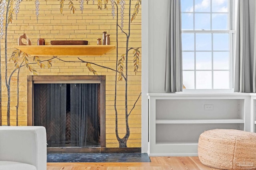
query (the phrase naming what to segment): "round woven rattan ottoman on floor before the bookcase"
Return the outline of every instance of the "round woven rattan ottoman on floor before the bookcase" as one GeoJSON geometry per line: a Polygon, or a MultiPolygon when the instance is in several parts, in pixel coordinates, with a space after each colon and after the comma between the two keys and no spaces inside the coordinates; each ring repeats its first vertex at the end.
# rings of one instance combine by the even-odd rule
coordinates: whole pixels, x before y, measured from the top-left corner
{"type": "Polygon", "coordinates": [[[202,164],[225,170],[256,170],[256,133],[213,129],[199,137],[202,164]]]}

